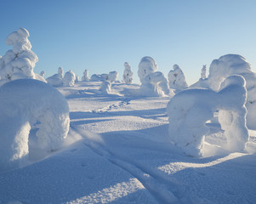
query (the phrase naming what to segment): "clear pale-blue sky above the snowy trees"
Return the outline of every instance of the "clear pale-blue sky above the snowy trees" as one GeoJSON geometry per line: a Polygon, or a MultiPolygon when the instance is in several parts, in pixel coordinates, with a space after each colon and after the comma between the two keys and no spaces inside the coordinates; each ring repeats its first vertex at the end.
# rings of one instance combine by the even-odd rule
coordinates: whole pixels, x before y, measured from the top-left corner
{"type": "Polygon", "coordinates": [[[46,77],[72,70],[82,77],[118,71],[128,62],[156,59],[167,77],[178,64],[189,84],[202,65],[241,54],[256,71],[255,0],[10,0],[0,2],[0,55],[5,38],[24,27],[46,77]]]}

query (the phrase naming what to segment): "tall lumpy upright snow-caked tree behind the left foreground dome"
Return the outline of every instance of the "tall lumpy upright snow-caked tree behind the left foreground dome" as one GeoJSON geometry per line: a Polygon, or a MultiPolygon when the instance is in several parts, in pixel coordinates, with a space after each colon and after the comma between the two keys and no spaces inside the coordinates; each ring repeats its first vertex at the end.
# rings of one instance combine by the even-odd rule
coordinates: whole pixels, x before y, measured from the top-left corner
{"type": "Polygon", "coordinates": [[[31,51],[31,42],[27,37],[29,32],[19,28],[5,39],[6,44],[13,46],[13,49],[0,59],[1,84],[20,78],[36,78],[33,69],[38,59],[31,51]]]}

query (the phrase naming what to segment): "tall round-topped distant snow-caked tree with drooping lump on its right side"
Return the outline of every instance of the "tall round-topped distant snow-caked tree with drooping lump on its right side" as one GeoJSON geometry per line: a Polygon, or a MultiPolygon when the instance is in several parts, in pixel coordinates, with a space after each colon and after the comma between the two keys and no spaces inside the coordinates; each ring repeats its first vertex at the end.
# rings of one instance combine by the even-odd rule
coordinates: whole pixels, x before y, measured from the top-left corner
{"type": "Polygon", "coordinates": [[[141,86],[139,92],[144,96],[164,96],[173,95],[168,87],[168,80],[161,71],[156,71],[155,59],[144,57],[139,62],[139,80],[141,86]]]}

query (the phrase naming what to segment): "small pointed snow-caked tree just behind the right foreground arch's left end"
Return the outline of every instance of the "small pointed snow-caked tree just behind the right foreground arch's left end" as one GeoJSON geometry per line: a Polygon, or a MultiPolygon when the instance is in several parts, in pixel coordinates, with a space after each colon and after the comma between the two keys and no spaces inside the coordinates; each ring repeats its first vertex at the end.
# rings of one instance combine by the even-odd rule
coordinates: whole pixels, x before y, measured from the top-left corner
{"type": "Polygon", "coordinates": [[[183,90],[188,87],[185,81],[185,75],[183,71],[179,68],[179,65],[174,65],[174,70],[169,71],[168,82],[169,88],[183,90]]]}

